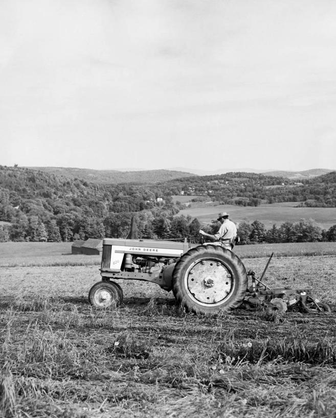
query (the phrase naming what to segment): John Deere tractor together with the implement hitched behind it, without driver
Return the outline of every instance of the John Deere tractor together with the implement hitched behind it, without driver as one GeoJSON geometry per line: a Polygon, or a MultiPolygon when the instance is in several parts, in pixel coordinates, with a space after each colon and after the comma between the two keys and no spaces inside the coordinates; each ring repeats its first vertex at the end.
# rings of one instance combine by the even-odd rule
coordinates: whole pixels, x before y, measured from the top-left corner
{"type": "Polygon", "coordinates": [[[142,280],[172,290],[176,302],[187,311],[210,314],[220,310],[268,306],[281,312],[330,311],[313,298],[311,289],[270,288],[263,277],[247,272],[233,252],[219,245],[185,242],[114,239],[103,240],[101,281],[89,291],[89,302],[100,308],[119,304],[121,286],[114,280],[142,280]]]}

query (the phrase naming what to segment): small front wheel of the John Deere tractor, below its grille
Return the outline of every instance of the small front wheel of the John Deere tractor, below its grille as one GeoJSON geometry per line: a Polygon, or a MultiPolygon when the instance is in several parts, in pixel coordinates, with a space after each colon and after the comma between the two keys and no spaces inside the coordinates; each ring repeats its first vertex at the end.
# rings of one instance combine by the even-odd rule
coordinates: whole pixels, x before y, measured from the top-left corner
{"type": "Polygon", "coordinates": [[[120,296],[114,282],[101,281],[92,286],[88,292],[88,301],[96,308],[116,307],[120,303],[120,296]]]}

